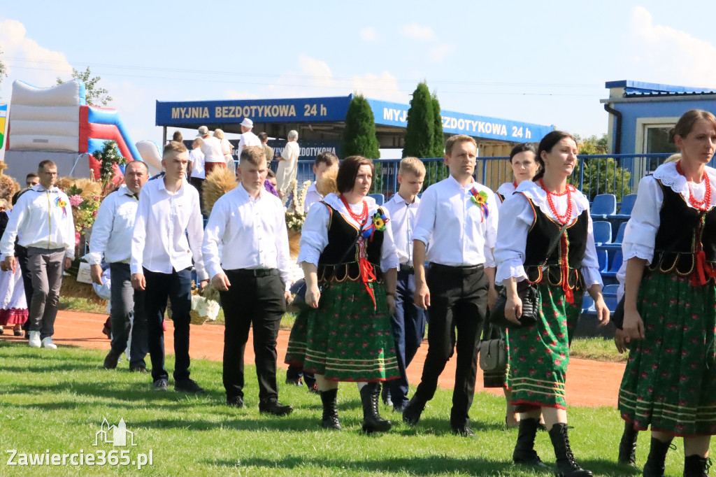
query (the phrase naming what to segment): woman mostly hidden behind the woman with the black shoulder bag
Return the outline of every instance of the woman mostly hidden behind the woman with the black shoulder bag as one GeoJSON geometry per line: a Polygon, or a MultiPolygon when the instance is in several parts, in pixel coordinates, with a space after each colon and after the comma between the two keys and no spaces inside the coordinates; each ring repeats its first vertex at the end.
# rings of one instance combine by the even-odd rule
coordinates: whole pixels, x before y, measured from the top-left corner
{"type": "MultiPolygon", "coordinates": [[[[530,143],[520,143],[512,148],[510,152],[510,166],[512,168],[512,182],[505,182],[497,189],[498,209],[506,198],[511,196],[517,186],[523,180],[531,181],[539,170],[539,164],[535,158],[535,147],[530,143]]],[[[500,329],[490,325],[490,320],[485,320],[484,339],[500,338],[500,329]]],[[[511,404],[512,392],[505,385],[505,373],[495,371],[483,371],[483,387],[502,387],[507,401],[507,412],[505,413],[505,425],[508,428],[516,428],[520,423],[519,413],[511,404]]]]}

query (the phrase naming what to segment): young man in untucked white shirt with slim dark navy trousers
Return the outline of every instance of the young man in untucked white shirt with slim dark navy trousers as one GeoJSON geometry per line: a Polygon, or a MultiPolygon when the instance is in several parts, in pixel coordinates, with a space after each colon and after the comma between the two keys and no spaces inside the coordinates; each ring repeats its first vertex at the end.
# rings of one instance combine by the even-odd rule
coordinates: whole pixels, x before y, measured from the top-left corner
{"type": "Polygon", "coordinates": [[[164,146],[163,178],[142,187],[132,233],[132,286],[145,290],[147,345],[155,390],[166,390],[162,322],[167,299],[174,322],[174,389],[203,392],[189,377],[189,312],[192,258],[199,289],[208,282],[201,258],[203,235],[199,193],[185,179],[188,151],[183,143],[164,146]],[[188,232],[188,233],[187,233],[188,232]]]}

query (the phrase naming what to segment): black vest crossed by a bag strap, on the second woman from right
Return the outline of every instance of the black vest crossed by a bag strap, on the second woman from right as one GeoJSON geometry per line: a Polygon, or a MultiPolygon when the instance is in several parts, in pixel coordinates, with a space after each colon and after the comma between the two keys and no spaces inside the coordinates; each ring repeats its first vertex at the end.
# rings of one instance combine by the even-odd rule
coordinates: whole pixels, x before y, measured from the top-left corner
{"type": "Polygon", "coordinates": [[[536,206],[530,198],[525,196],[532,206],[535,214],[535,221],[527,233],[527,245],[525,247],[525,273],[528,281],[537,283],[544,279],[542,264],[547,267],[546,278],[548,283],[553,286],[562,284],[562,260],[566,257],[569,269],[567,276],[567,284],[570,288],[583,288],[581,284],[581,262],[584,259],[586,251],[586,240],[589,230],[589,213],[582,213],[570,223],[563,235],[566,236],[566,251],[563,250],[564,242],[558,239],[558,244],[547,257],[549,244],[556,239],[559,229],[562,227],[560,223],[553,221],[544,213],[541,208],[536,206]],[[546,261],[546,262],[545,262],[546,261]]]}

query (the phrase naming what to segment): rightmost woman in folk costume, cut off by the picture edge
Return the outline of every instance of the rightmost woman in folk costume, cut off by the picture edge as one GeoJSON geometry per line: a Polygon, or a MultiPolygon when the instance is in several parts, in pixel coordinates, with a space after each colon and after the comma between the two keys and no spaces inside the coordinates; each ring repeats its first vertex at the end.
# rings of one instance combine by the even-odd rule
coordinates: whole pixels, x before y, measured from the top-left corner
{"type": "Polygon", "coordinates": [[[716,433],[716,118],[684,113],[671,138],[681,152],[639,182],[622,249],[629,360],[621,417],[651,426],[644,476],[663,476],[674,436],[684,438],[684,476],[706,476],[716,433]]]}

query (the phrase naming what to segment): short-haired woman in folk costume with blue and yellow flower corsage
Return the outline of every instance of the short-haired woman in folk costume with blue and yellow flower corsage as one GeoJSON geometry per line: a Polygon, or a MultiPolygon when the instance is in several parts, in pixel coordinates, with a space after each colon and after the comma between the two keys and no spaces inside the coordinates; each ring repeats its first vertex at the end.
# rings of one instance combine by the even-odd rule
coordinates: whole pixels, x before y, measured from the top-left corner
{"type": "Polygon", "coordinates": [[[308,307],[291,329],[286,352],[286,363],[316,375],[323,428],[341,428],[338,382],[358,382],[367,433],[390,430],[378,414],[379,381],[400,377],[390,328],[399,261],[387,211],[367,197],[373,173],[369,159],[345,158],[339,193],[306,216],[298,261],[308,307]]]}

